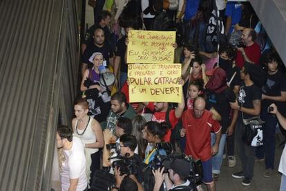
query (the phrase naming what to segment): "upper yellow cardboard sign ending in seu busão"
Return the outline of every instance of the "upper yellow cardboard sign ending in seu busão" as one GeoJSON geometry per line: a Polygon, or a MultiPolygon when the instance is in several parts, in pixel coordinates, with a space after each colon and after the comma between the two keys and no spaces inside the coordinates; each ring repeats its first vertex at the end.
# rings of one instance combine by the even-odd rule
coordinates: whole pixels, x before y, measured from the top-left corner
{"type": "Polygon", "coordinates": [[[130,30],[127,63],[173,63],[175,31],[130,30]]]}

